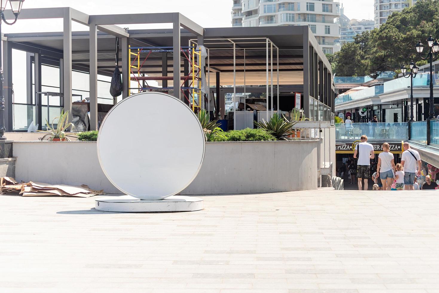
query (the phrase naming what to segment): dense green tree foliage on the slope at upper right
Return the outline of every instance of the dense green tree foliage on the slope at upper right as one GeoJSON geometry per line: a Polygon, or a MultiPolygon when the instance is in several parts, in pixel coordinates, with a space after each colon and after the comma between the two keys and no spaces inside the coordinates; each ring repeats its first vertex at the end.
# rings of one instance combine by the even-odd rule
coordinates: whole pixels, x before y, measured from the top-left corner
{"type": "MultiPolygon", "coordinates": [[[[415,45],[430,34],[439,37],[439,0],[418,0],[413,7],[394,12],[379,29],[363,32],[335,53],[337,76],[378,77],[384,71],[398,72],[410,60],[423,65],[415,45]]],[[[425,49],[425,52],[427,50],[425,49]]],[[[332,65],[332,64],[331,64],[332,65]]]]}

